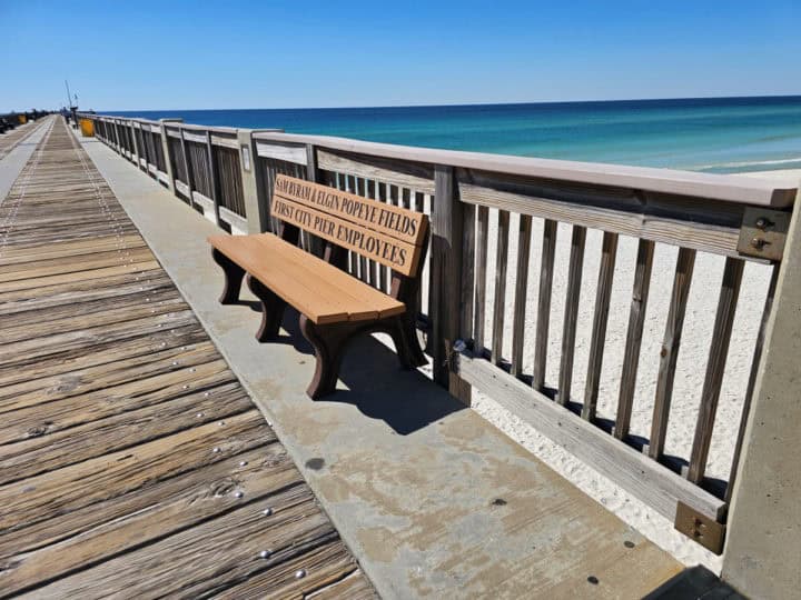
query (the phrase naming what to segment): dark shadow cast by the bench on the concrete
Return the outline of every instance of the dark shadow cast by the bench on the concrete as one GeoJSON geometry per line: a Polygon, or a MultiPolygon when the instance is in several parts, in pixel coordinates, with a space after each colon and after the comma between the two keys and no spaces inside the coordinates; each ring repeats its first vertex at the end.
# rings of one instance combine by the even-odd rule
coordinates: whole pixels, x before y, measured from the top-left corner
{"type": "MultiPolygon", "coordinates": [[[[240,300],[239,303],[260,310],[257,301],[240,300]]],[[[285,343],[313,356],[312,344],[300,332],[299,317],[295,309],[287,307],[280,334],[263,346],[285,343]]],[[[402,369],[394,349],[373,336],[359,336],[348,346],[339,370],[339,387],[330,396],[315,401],[353,404],[365,417],[386,422],[399,436],[408,436],[467,409],[418,370],[402,369]],[[342,389],[343,383],[347,389],[342,389]]]]}

